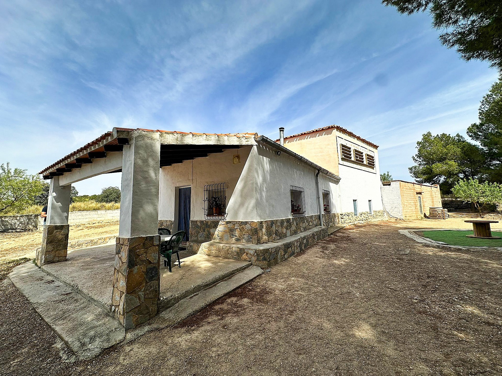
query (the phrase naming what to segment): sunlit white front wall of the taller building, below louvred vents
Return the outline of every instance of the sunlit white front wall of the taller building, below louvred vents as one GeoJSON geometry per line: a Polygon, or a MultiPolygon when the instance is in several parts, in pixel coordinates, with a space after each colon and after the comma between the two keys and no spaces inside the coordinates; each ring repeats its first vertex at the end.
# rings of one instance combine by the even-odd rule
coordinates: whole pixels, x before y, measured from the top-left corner
{"type": "Polygon", "coordinates": [[[380,190],[380,166],[378,150],[365,143],[340,133],[336,139],[337,149],[343,143],[352,149],[357,148],[363,153],[372,154],[375,160],[375,168],[370,168],[353,162],[342,160],[338,153],[340,181],[340,213],[352,213],[354,211],[353,200],[357,200],[358,212],[368,212],[368,200],[371,200],[373,211],[383,210],[382,194],[380,190]]]}

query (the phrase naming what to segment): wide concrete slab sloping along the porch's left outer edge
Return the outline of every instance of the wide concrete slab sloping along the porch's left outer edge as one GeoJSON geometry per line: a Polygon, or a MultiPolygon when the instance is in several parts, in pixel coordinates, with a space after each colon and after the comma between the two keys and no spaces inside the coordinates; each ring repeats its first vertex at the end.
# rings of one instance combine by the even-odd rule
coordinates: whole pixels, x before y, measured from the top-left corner
{"type": "Polygon", "coordinates": [[[14,268],[9,278],[78,359],[90,359],[123,340],[117,320],[33,262],[14,268]]]}

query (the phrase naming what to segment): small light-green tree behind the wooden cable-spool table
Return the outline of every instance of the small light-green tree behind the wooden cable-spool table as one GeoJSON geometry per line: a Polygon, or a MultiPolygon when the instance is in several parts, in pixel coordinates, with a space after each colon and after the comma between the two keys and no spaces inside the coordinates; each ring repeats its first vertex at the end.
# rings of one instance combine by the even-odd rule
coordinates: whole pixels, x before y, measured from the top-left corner
{"type": "Polygon", "coordinates": [[[452,188],[452,192],[457,199],[474,204],[480,217],[483,216],[483,205],[502,202],[502,186],[497,183],[480,183],[477,179],[470,178],[460,180],[452,188]]]}

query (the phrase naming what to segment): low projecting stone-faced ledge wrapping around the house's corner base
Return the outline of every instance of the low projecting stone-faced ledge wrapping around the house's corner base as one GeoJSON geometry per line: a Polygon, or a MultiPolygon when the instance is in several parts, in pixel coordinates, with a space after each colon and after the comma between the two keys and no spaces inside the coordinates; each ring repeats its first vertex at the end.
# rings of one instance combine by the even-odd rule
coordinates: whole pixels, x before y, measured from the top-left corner
{"type": "Polygon", "coordinates": [[[194,251],[195,248],[198,247],[199,253],[208,256],[250,261],[253,265],[266,268],[285,261],[315,242],[326,238],[329,235],[328,231],[327,227],[318,226],[300,234],[266,244],[247,244],[213,240],[206,243],[189,242],[189,245],[194,251]]]}

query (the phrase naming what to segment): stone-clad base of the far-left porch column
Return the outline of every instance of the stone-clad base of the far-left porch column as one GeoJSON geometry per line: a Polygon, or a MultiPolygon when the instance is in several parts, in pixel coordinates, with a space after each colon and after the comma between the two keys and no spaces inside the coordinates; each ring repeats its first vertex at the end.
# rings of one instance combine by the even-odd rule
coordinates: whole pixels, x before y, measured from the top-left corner
{"type": "Polygon", "coordinates": [[[38,266],[65,261],[68,254],[68,234],[70,225],[45,225],[42,247],[37,249],[38,266]]]}

